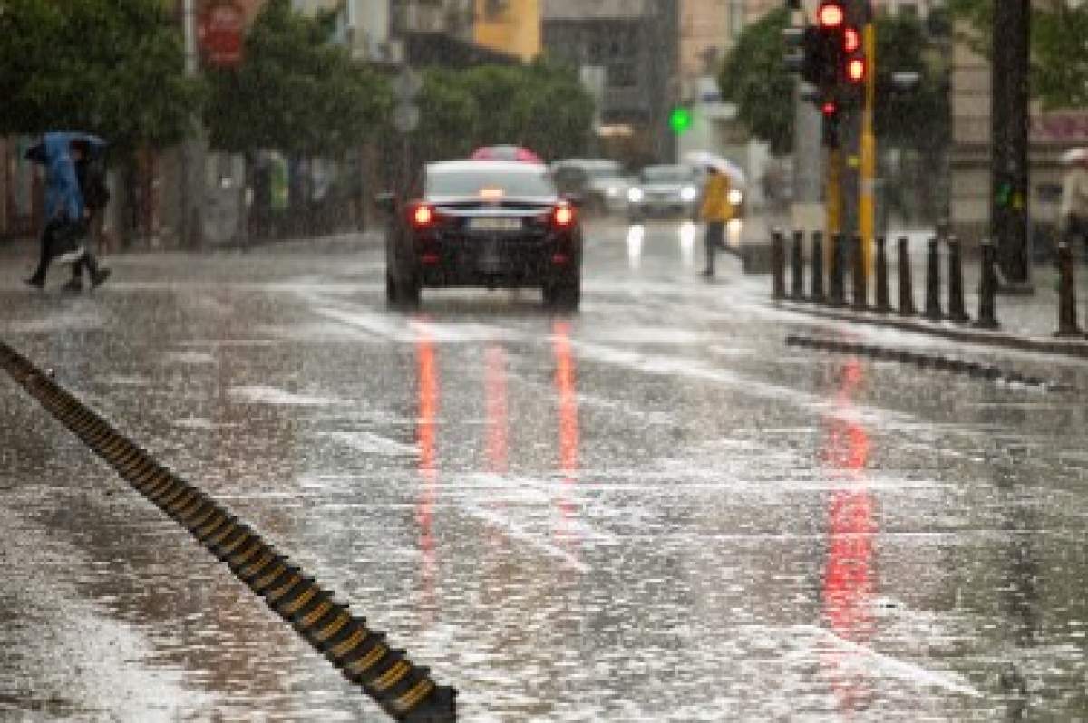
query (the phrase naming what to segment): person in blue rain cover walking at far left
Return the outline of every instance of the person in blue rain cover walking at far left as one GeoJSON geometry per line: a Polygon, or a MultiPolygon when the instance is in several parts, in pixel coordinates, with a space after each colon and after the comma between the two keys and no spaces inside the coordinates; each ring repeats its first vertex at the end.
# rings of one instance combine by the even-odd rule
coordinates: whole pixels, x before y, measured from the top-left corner
{"type": "Polygon", "coordinates": [[[40,289],[53,259],[78,252],[79,238],[86,230],[86,210],[73,158],[79,150],[72,148],[70,138],[65,134],[46,134],[32,153],[30,158],[46,166],[46,215],[38,266],[26,284],[40,289]]]}

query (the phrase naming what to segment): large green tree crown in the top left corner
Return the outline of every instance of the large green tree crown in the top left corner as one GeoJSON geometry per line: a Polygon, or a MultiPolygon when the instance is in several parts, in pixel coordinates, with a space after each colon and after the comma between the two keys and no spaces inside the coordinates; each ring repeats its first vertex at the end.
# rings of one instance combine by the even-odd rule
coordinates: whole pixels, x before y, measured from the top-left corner
{"type": "Polygon", "coordinates": [[[159,0],[3,0],[0,38],[2,134],[75,128],[131,150],[189,130],[200,85],[159,0]]]}

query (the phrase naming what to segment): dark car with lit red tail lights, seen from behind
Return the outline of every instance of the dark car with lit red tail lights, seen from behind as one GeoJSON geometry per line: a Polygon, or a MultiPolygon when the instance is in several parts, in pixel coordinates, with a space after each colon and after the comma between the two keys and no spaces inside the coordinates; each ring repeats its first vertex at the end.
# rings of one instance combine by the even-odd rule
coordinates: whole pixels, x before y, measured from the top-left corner
{"type": "Polygon", "coordinates": [[[578,308],[581,224],[544,165],[432,163],[424,170],[422,189],[420,198],[400,204],[390,220],[390,303],[416,306],[423,287],[535,287],[549,307],[578,308]]]}

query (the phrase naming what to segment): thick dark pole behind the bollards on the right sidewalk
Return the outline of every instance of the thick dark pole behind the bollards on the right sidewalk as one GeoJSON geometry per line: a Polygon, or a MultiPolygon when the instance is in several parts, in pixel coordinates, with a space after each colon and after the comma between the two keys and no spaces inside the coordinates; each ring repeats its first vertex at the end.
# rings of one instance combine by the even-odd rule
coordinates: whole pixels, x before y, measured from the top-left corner
{"type": "Polygon", "coordinates": [[[1002,290],[1030,294],[1028,253],[1028,63],[1030,0],[993,3],[990,235],[1004,276],[1002,290]]]}

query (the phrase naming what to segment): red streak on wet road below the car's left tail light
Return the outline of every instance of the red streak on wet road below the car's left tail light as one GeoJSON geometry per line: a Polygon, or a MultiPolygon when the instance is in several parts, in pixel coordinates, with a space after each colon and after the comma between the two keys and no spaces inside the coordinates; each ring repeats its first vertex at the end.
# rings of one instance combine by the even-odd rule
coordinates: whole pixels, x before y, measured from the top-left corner
{"type": "Polygon", "coordinates": [[[419,392],[419,413],[416,419],[416,442],[419,447],[419,474],[422,488],[416,503],[416,523],[419,525],[419,548],[422,559],[420,584],[424,624],[433,622],[435,609],[434,584],[437,572],[437,551],[432,528],[434,502],[438,491],[438,362],[434,340],[423,331],[417,331],[416,384],[419,392]]]}

